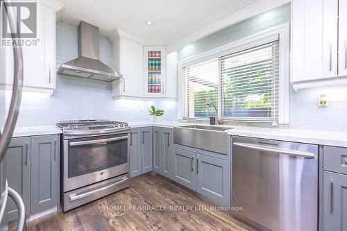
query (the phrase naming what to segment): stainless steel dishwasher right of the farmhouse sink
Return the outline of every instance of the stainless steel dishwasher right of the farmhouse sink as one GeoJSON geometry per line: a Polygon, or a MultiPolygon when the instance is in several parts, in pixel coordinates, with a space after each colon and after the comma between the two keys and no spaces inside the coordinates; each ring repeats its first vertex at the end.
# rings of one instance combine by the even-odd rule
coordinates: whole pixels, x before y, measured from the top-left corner
{"type": "Polygon", "coordinates": [[[318,229],[318,146],[232,137],[234,215],[260,230],[318,229]]]}

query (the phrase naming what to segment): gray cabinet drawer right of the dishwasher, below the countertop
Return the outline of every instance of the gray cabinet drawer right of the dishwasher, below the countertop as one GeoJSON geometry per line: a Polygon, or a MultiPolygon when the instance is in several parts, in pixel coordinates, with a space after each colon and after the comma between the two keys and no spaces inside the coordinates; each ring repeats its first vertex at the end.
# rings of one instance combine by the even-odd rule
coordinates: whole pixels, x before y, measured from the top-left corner
{"type": "Polygon", "coordinates": [[[324,146],[323,169],[347,174],[347,148],[324,146]]]}

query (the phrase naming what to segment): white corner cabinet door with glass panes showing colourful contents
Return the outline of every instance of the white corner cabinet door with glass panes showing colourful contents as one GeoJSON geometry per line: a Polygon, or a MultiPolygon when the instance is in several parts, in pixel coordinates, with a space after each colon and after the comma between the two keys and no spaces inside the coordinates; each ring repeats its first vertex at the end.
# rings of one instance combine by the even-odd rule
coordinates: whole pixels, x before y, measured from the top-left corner
{"type": "Polygon", "coordinates": [[[144,46],[144,97],[166,96],[165,46],[144,46]]]}

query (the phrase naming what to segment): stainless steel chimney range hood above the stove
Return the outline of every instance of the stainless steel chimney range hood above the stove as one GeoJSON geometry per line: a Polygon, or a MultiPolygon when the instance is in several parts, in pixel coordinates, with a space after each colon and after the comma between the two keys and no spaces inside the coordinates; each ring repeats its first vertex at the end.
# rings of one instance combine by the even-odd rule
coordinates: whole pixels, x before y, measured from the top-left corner
{"type": "Polygon", "coordinates": [[[62,64],[57,73],[103,81],[123,77],[99,60],[99,28],[83,21],[78,25],[78,58],[62,64]]]}

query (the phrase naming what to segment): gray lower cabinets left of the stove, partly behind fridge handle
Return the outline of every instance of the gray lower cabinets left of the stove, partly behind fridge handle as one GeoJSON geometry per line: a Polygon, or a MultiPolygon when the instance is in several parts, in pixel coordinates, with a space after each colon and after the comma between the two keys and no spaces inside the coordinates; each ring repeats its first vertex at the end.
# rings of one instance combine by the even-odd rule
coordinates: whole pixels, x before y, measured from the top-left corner
{"type": "MultiPolygon", "coordinates": [[[[22,196],[27,215],[58,205],[59,153],[58,135],[11,139],[2,177],[22,196]]],[[[9,198],[3,221],[15,220],[17,214],[9,198]]]]}

